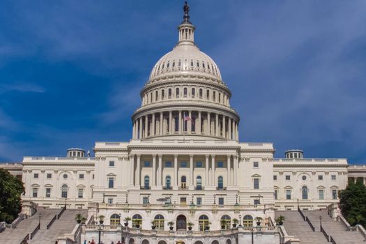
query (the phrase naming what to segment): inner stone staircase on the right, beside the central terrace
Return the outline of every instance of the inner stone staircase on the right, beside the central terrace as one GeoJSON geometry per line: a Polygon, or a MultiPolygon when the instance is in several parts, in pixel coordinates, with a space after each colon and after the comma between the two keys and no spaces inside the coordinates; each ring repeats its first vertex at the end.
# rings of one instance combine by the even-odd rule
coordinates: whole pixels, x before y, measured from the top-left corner
{"type": "Polygon", "coordinates": [[[301,244],[328,243],[323,233],[319,231],[312,231],[309,224],[303,220],[298,211],[275,211],[275,218],[280,215],[283,215],[285,218],[284,228],[286,229],[287,234],[298,238],[301,244]]]}

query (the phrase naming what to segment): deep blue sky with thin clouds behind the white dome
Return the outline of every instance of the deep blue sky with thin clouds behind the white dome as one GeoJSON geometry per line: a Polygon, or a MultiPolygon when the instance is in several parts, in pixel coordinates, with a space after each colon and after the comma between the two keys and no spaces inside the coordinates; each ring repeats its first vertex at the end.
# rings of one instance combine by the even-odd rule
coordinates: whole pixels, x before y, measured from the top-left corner
{"type": "MultiPolygon", "coordinates": [[[[0,1],[0,162],[128,141],[183,1],[0,1]]],[[[366,164],[366,1],[191,0],[241,142],[366,164]]]]}

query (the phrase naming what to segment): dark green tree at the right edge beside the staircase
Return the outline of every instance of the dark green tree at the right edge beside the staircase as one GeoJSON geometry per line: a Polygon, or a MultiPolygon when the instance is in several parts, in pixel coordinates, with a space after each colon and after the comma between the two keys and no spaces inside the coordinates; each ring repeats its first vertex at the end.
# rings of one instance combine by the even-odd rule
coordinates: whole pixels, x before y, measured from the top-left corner
{"type": "Polygon", "coordinates": [[[366,226],[366,188],[363,181],[350,181],[346,189],[339,192],[342,215],[351,225],[366,226]]]}

